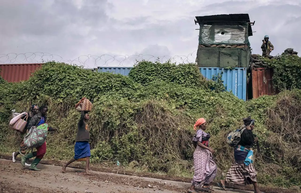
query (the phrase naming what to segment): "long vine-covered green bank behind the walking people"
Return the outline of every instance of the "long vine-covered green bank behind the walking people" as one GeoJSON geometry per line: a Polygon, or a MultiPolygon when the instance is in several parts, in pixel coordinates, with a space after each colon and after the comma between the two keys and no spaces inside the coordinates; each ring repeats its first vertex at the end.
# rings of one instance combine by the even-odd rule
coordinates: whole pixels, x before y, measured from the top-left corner
{"type": "Polygon", "coordinates": [[[45,158],[70,159],[79,119],[74,104],[85,96],[93,102],[89,120],[93,163],[118,160],[127,165],[136,160],[150,172],[191,176],[193,124],[204,117],[216,150],[214,159],[226,171],[233,150],[225,135],[251,115],[262,149],[262,157],[255,160],[259,182],[300,185],[301,120],[295,114],[301,113],[300,90],[244,102],[219,92],[223,88],[219,81],[206,81],[193,64],[143,61],[126,77],[48,62],[28,81],[0,83],[0,151],[10,154],[20,144],[18,133],[8,128],[11,110],[23,112],[36,103],[48,106],[48,122],[59,129],[47,138],[45,158]],[[281,133],[280,123],[289,127],[290,135],[281,133]],[[288,143],[290,138],[293,144],[288,143]],[[292,151],[293,147],[298,148],[292,151]],[[188,165],[183,167],[183,162],[188,165]]]}

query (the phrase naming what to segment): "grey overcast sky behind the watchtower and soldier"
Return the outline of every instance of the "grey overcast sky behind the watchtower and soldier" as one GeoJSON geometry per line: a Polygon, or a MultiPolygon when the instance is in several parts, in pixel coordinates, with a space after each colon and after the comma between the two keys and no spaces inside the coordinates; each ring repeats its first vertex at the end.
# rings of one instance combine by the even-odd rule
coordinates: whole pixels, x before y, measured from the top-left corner
{"type": "MultiPolygon", "coordinates": [[[[195,16],[235,13],[248,13],[256,21],[256,32],[249,37],[253,53],[262,53],[262,39],[269,35],[275,46],[271,55],[286,48],[301,54],[301,0],[14,0],[0,2],[0,63],[14,59],[9,53],[26,52],[45,53],[44,60],[52,59],[50,53],[54,60],[75,60],[90,68],[110,60],[108,55],[142,54],[148,59],[190,54],[187,60],[194,62],[199,33],[195,16]],[[85,55],[101,61],[85,61],[85,55]]],[[[41,61],[42,53],[26,57],[41,61]]],[[[26,63],[24,55],[17,59],[26,63]]],[[[135,57],[125,65],[130,60],[135,57]]]]}

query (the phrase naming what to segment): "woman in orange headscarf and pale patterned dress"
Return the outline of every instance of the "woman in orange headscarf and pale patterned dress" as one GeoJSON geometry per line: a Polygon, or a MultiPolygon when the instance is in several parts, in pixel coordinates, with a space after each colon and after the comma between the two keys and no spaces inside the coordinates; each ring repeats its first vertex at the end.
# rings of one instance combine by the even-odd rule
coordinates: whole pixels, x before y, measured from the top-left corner
{"type": "Polygon", "coordinates": [[[192,143],[195,147],[193,153],[194,161],[194,176],[191,181],[192,185],[188,189],[190,193],[196,193],[195,186],[202,186],[204,191],[213,191],[210,188],[210,183],[216,177],[217,166],[212,160],[212,153],[215,151],[209,147],[210,134],[205,132],[206,120],[204,118],[198,119],[194,124],[194,130],[196,134],[192,139],[192,143]]]}

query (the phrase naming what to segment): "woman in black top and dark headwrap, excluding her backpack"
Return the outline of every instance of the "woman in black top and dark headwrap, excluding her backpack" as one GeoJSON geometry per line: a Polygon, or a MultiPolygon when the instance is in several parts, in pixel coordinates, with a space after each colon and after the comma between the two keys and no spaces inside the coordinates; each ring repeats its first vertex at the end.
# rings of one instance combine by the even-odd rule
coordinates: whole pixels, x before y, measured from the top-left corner
{"type": "Polygon", "coordinates": [[[258,141],[257,137],[253,135],[255,127],[255,120],[251,117],[243,119],[246,128],[240,135],[240,141],[237,147],[234,148],[235,162],[231,165],[226,174],[226,179],[221,180],[218,186],[226,191],[225,184],[232,183],[236,185],[250,185],[253,184],[255,193],[263,193],[259,190],[257,185],[257,172],[253,167],[253,150],[254,142],[258,141]]]}

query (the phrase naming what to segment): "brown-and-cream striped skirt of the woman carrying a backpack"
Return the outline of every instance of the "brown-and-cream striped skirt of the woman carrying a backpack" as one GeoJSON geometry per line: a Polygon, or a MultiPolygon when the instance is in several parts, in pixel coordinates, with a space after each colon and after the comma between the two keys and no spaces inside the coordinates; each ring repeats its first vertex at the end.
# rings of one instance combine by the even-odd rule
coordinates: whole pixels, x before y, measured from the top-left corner
{"type": "Polygon", "coordinates": [[[226,174],[226,182],[236,185],[249,185],[256,182],[257,172],[253,164],[234,162],[226,174]]]}

